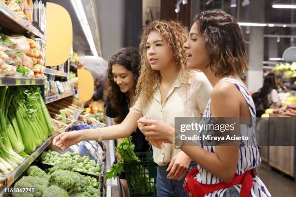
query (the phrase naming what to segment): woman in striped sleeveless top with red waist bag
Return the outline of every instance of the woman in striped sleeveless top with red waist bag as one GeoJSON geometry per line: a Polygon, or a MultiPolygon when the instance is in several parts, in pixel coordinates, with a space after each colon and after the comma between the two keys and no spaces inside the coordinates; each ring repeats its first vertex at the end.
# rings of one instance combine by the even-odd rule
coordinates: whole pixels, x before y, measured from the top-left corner
{"type": "MultiPolygon", "coordinates": [[[[198,14],[184,44],[187,67],[203,71],[213,86],[211,98],[203,114],[204,123],[212,117],[256,117],[254,103],[238,75],[247,68],[245,41],[236,19],[222,10],[198,14]]],[[[175,129],[164,128],[163,122],[139,121],[150,124],[142,128],[146,140],[163,140],[175,144],[175,129]]],[[[237,124],[241,131],[252,133],[250,123],[237,124]]],[[[207,134],[203,130],[199,135],[207,134]]],[[[177,141],[177,140],[176,140],[177,141]]],[[[198,164],[187,175],[184,186],[192,197],[270,197],[266,186],[256,176],[261,159],[257,146],[232,145],[176,146],[198,164]]]]}

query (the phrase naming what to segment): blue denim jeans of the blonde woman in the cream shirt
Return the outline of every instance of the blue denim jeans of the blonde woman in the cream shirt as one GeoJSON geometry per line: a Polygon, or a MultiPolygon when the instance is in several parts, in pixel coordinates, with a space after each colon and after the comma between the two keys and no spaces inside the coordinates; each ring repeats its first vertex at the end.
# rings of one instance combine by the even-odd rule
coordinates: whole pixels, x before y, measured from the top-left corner
{"type": "MultiPolygon", "coordinates": [[[[188,169],[188,172],[196,167],[196,163],[191,163],[188,169]]],[[[185,180],[185,177],[180,181],[177,179],[168,179],[166,176],[168,175],[169,171],[167,172],[166,169],[168,168],[168,165],[166,166],[158,166],[157,168],[157,179],[156,179],[156,190],[157,190],[157,197],[187,197],[184,188],[183,183],[185,180]]]]}

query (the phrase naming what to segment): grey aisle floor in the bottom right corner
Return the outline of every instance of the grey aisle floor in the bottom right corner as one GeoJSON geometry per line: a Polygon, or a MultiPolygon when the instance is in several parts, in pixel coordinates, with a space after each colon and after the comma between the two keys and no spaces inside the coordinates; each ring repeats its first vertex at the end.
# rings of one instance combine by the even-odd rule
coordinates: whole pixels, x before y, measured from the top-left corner
{"type": "Polygon", "coordinates": [[[296,183],[292,179],[270,170],[264,163],[258,167],[257,173],[272,197],[296,197],[296,183]]]}

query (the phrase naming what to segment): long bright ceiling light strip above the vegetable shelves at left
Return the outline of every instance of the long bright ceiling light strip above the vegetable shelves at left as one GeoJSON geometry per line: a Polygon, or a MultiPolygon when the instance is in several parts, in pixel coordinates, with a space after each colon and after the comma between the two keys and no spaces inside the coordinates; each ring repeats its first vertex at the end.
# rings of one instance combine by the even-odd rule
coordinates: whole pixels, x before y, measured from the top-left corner
{"type": "Polygon", "coordinates": [[[91,53],[93,54],[93,56],[98,56],[97,49],[96,49],[96,46],[93,42],[92,34],[91,34],[91,31],[89,28],[88,19],[86,17],[85,12],[84,12],[81,0],[71,0],[71,4],[72,4],[74,11],[77,15],[77,18],[80,22],[83,32],[89,42],[89,47],[90,47],[91,53]]]}

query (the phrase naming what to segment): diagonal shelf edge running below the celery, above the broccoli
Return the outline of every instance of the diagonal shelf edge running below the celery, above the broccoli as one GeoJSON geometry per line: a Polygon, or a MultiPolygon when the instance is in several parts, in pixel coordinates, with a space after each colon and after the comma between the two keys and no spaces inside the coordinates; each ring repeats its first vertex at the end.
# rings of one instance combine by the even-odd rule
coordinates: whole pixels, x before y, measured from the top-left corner
{"type": "Polygon", "coordinates": [[[33,161],[47,148],[51,141],[52,137],[49,137],[21,165],[14,169],[14,171],[4,180],[3,187],[0,190],[0,196],[2,196],[4,193],[3,189],[5,187],[10,187],[15,182],[15,180],[31,165],[31,163],[33,163],[33,161]]]}

